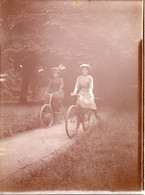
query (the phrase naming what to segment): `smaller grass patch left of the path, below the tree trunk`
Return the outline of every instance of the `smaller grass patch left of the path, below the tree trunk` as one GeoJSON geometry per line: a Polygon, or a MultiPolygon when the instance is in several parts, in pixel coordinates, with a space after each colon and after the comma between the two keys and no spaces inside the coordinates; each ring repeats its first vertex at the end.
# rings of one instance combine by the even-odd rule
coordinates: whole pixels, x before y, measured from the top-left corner
{"type": "Polygon", "coordinates": [[[2,105],[0,137],[12,136],[41,126],[39,119],[41,105],[2,105]]]}

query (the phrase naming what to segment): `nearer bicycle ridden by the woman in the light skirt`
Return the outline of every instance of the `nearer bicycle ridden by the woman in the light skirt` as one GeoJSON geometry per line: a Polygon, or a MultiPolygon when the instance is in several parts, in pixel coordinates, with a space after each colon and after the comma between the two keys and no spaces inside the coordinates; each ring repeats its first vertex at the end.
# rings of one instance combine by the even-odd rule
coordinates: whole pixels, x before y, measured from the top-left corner
{"type": "MultiPolygon", "coordinates": [[[[89,94],[76,94],[76,96],[84,96],[89,94]]],[[[96,97],[95,99],[100,99],[96,97]]],[[[87,131],[91,126],[91,115],[94,114],[94,111],[89,108],[81,108],[78,104],[71,105],[66,113],[65,118],[65,130],[67,136],[71,139],[77,134],[78,128],[82,123],[82,128],[84,131],[87,131]]],[[[96,119],[96,125],[100,125],[100,117],[96,119]]]]}

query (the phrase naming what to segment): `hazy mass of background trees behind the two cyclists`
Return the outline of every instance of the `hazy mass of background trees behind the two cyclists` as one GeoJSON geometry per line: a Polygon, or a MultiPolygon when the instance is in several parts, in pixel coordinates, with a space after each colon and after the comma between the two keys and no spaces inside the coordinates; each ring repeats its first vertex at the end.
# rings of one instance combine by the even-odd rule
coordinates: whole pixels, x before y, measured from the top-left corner
{"type": "Polygon", "coordinates": [[[49,69],[63,64],[68,100],[79,65],[89,63],[96,95],[107,104],[134,105],[141,6],[141,1],[2,0],[1,67],[8,74],[2,97],[42,98],[49,69]]]}

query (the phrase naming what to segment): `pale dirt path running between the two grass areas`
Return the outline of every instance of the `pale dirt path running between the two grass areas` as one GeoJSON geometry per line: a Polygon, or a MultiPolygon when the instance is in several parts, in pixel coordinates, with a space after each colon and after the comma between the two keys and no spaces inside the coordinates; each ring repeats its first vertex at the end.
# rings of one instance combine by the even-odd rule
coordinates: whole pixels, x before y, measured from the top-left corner
{"type": "Polygon", "coordinates": [[[25,165],[39,161],[70,142],[64,124],[35,129],[0,141],[0,180],[25,165]]]}

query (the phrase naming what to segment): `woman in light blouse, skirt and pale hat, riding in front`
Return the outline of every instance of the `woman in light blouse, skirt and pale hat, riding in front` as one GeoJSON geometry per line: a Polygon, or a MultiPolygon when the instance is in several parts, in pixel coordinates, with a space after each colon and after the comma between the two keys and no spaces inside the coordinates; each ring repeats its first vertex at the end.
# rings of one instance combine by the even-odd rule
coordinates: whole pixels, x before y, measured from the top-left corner
{"type": "Polygon", "coordinates": [[[95,117],[97,116],[97,107],[94,101],[94,94],[93,94],[93,77],[88,74],[90,65],[89,64],[82,64],[80,66],[82,74],[78,76],[75,89],[72,95],[76,95],[77,91],[79,91],[79,96],[77,99],[77,104],[80,108],[89,108],[94,110],[95,117]],[[82,96],[83,95],[83,96],[82,96]]]}

